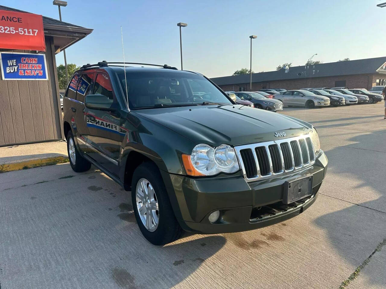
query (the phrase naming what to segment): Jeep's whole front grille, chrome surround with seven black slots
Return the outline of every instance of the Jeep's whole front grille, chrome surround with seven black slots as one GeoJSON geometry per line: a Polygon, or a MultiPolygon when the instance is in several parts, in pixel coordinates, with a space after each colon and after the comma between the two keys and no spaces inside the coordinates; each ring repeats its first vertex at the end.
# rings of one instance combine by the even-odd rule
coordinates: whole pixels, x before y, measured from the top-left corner
{"type": "Polygon", "coordinates": [[[247,181],[300,170],[315,163],[315,150],[308,134],[235,146],[235,150],[247,181]]]}

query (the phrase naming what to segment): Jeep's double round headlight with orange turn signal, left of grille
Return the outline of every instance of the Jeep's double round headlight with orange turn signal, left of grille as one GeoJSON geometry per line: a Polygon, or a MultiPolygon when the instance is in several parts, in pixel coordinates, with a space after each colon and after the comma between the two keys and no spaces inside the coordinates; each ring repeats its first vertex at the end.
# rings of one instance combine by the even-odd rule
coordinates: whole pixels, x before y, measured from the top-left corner
{"type": "Polygon", "coordinates": [[[212,176],[220,172],[234,173],[240,169],[234,148],[222,144],[212,148],[197,144],[191,155],[182,155],[186,173],[191,176],[212,176]]]}

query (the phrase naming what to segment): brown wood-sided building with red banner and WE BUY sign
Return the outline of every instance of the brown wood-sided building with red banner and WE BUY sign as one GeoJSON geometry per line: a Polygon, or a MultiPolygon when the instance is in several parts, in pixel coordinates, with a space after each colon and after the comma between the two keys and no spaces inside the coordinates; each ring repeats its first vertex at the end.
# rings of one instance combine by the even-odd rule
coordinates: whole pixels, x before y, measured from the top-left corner
{"type": "Polygon", "coordinates": [[[55,55],[92,31],[0,5],[0,146],[64,138],[55,55]]]}

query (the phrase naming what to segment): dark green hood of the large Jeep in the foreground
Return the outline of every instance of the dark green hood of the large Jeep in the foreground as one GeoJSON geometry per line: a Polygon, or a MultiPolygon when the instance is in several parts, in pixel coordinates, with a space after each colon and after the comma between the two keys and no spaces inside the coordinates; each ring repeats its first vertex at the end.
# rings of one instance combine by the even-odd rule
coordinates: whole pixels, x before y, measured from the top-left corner
{"type": "Polygon", "coordinates": [[[185,106],[133,111],[185,136],[193,143],[249,144],[307,133],[312,126],[284,114],[242,105],[185,106]]]}

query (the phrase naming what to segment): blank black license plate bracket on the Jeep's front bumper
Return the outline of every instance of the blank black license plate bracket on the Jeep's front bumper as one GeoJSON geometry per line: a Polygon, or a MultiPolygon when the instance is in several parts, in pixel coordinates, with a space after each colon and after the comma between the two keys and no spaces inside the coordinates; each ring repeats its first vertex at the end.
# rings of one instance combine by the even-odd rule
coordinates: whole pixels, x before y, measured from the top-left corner
{"type": "Polygon", "coordinates": [[[285,181],[283,203],[288,205],[312,195],[312,177],[312,175],[307,175],[293,181],[285,181]]]}

